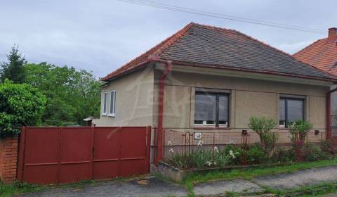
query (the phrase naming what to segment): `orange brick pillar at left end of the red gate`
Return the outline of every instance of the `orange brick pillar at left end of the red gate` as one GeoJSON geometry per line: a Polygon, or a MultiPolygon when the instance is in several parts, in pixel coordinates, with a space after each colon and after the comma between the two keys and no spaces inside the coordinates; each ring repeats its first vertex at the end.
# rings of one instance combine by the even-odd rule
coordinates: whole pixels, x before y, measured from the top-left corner
{"type": "Polygon", "coordinates": [[[0,179],[11,183],[16,179],[18,165],[18,136],[0,140],[0,179]]]}

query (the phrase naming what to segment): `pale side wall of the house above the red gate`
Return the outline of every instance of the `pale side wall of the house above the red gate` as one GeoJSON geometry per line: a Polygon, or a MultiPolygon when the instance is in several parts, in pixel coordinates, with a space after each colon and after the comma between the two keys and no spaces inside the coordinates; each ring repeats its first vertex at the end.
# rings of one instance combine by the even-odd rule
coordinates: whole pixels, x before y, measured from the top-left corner
{"type": "MultiPolygon", "coordinates": [[[[101,103],[104,92],[116,91],[116,115],[110,117],[100,115],[100,119],[93,120],[96,126],[148,126],[152,125],[152,107],[154,89],[154,71],[147,67],[131,74],[119,77],[110,84],[102,87],[101,103]]],[[[108,94],[107,109],[110,108],[108,94]]],[[[103,112],[103,105],[101,105],[103,112]]]]}

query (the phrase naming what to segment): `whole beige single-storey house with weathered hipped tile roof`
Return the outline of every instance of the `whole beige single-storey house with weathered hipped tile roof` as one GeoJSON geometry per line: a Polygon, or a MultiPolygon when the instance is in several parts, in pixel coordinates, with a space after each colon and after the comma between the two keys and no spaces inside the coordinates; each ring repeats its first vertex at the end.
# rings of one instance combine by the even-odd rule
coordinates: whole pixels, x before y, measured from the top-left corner
{"type": "Polygon", "coordinates": [[[281,142],[297,119],[312,122],[310,141],[325,139],[337,77],[236,30],[190,23],[102,80],[96,126],[150,125],[158,144],[165,130],[217,132],[226,134],[219,143],[239,144],[251,116],[277,120],[281,142]]]}

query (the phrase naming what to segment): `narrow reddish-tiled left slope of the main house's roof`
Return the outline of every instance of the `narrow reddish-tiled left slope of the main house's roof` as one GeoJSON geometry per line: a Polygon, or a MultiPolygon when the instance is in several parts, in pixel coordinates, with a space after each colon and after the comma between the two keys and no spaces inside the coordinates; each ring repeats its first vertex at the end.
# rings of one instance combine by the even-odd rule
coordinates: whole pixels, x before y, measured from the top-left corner
{"type": "Polygon", "coordinates": [[[159,56],[167,48],[169,48],[169,46],[174,44],[180,37],[182,37],[187,32],[187,30],[189,30],[190,27],[192,27],[194,24],[195,23],[192,23],[192,22],[187,24],[185,27],[183,27],[183,29],[180,29],[178,32],[172,34],[170,37],[167,37],[163,41],[159,42],[159,44],[157,44],[156,46],[153,46],[151,49],[145,51],[144,53],[141,53],[136,58],[133,58],[131,61],[128,61],[127,63],[125,63],[121,67],[117,68],[117,70],[114,70],[113,72],[110,72],[108,75],[103,77],[102,80],[107,80],[112,75],[114,75],[114,73],[119,72],[119,70],[123,70],[124,68],[128,67],[129,65],[132,65],[132,63],[134,63],[136,61],[139,61],[141,58],[147,58],[147,57],[152,56],[154,54],[159,56]]]}

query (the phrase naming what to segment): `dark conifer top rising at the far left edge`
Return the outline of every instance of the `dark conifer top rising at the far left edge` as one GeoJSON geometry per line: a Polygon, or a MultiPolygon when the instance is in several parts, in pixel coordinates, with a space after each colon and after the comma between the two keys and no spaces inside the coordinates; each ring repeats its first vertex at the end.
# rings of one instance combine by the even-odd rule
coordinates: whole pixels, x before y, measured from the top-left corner
{"type": "Polygon", "coordinates": [[[12,50],[7,55],[8,62],[0,63],[0,78],[1,82],[5,79],[11,80],[14,83],[21,84],[25,82],[25,58],[19,53],[18,47],[12,47],[12,50]]]}

